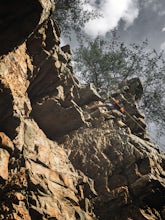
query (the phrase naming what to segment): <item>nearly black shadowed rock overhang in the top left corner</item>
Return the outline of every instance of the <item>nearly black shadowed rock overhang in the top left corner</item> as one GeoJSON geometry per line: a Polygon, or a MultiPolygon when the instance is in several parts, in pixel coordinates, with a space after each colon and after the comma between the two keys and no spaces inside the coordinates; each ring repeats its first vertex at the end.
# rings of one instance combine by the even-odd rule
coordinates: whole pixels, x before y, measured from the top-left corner
{"type": "Polygon", "coordinates": [[[32,0],[0,3],[0,55],[7,54],[32,33],[40,20],[41,4],[32,0]]]}

